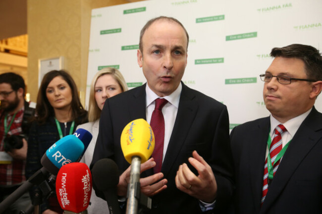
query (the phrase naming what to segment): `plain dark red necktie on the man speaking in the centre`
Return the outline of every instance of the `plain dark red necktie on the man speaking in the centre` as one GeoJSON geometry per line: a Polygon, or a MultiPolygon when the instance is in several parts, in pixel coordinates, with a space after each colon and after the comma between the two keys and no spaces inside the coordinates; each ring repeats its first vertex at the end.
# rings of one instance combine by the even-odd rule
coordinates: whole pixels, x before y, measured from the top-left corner
{"type": "Polygon", "coordinates": [[[164,118],[162,114],[162,108],[168,101],[166,99],[156,99],[156,106],[152,113],[150,126],[155,136],[155,147],[152,153],[152,157],[156,162],[156,166],[153,168],[154,173],[161,171],[162,156],[163,156],[163,141],[164,141],[164,118]]]}

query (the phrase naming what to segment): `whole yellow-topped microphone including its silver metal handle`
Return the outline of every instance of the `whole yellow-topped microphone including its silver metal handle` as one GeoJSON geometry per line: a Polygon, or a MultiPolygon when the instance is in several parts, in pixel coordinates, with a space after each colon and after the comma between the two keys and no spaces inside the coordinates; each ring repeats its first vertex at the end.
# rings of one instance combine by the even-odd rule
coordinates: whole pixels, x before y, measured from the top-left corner
{"type": "Polygon", "coordinates": [[[121,134],[124,158],[131,164],[130,183],[127,187],[126,214],[136,214],[140,198],[141,161],[146,162],[153,153],[155,137],[152,128],[144,119],[128,123],[121,134]]]}

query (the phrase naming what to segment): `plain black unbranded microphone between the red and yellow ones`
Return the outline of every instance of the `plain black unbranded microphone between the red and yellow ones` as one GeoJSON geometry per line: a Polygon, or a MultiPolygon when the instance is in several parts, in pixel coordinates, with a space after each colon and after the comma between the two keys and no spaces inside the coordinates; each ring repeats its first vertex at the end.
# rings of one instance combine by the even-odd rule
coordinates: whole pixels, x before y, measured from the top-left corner
{"type": "Polygon", "coordinates": [[[104,193],[109,213],[120,214],[116,189],[119,171],[116,163],[108,158],[99,160],[93,166],[92,176],[97,189],[104,193]]]}

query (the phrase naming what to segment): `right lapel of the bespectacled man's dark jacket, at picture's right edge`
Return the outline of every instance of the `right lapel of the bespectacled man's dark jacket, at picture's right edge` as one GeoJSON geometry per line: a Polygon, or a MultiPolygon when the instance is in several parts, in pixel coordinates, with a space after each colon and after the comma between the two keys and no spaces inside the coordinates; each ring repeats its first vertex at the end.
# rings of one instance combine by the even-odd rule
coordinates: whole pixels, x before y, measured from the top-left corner
{"type": "Polygon", "coordinates": [[[263,213],[265,213],[271,204],[278,198],[294,171],[318,140],[321,139],[322,124],[319,122],[321,121],[321,117],[321,114],[313,107],[311,113],[295,133],[269,187],[268,194],[262,207],[263,213]]]}

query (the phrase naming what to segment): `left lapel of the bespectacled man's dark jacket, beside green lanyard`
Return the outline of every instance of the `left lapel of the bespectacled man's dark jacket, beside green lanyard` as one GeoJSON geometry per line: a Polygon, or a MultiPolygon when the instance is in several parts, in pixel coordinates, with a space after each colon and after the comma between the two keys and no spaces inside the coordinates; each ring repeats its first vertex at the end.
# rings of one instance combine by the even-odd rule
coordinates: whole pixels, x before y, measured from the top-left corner
{"type": "Polygon", "coordinates": [[[262,199],[263,174],[269,126],[269,117],[267,117],[260,122],[257,128],[254,128],[249,132],[249,171],[251,175],[251,183],[253,184],[252,193],[256,213],[259,213],[260,211],[262,199]]]}

